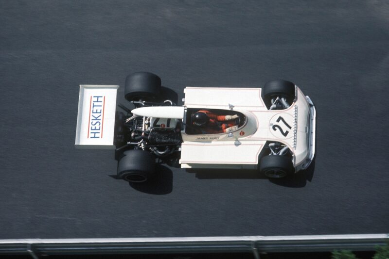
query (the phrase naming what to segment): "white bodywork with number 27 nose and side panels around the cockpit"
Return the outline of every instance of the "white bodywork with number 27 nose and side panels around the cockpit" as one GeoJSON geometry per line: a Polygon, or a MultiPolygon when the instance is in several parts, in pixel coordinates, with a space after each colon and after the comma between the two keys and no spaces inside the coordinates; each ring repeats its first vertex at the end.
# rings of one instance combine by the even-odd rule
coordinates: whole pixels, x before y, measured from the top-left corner
{"type": "Polygon", "coordinates": [[[296,87],[296,100],[288,109],[269,111],[261,91],[261,88],[185,88],[186,108],[233,110],[243,113],[247,122],[230,133],[187,135],[183,130],[181,167],[255,169],[266,141],[273,141],[292,150],[296,171],[305,169],[314,156],[312,102],[308,103],[309,97],[296,87]],[[282,120],[277,121],[280,116],[290,129],[282,120]],[[287,135],[281,130],[284,134],[288,132],[287,135]]]}

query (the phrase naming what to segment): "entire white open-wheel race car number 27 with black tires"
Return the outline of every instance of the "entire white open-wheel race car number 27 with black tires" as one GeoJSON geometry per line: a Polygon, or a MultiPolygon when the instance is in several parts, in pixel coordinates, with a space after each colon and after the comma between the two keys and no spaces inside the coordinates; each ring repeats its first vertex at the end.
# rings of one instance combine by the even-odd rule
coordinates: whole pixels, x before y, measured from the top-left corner
{"type": "MultiPolygon", "coordinates": [[[[316,110],[289,81],[263,88],[186,87],[184,105],[169,97],[157,75],[127,76],[118,85],[80,85],[76,143],[115,148],[118,177],[145,182],[158,162],[181,168],[258,169],[282,178],[306,169],[315,154],[316,110]]],[[[177,94],[176,94],[177,98],[177,94]]]]}

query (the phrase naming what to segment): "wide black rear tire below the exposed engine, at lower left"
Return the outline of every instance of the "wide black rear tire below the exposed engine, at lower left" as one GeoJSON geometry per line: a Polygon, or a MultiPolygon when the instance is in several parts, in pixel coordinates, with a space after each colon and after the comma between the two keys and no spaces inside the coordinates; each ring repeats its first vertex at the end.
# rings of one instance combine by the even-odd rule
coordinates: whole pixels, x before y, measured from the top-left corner
{"type": "Polygon", "coordinates": [[[127,150],[118,163],[118,178],[141,183],[155,175],[155,158],[143,150],[127,150]]]}

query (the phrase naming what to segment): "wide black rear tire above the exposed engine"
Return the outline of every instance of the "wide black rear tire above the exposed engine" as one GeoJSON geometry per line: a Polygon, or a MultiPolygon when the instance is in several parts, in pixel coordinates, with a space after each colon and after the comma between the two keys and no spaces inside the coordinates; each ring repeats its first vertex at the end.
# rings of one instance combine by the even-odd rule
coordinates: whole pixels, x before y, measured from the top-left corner
{"type": "Polygon", "coordinates": [[[124,97],[128,101],[152,101],[161,91],[161,79],[149,72],[136,72],[125,79],[124,97]]]}

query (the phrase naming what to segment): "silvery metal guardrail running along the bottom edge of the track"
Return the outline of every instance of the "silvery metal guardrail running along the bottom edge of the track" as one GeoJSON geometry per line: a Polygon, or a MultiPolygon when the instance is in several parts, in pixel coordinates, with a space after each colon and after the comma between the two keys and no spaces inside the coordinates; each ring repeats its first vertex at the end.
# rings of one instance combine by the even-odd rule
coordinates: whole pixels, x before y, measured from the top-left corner
{"type": "Polygon", "coordinates": [[[335,249],[375,250],[389,234],[318,236],[243,236],[112,239],[17,239],[0,240],[0,254],[160,254],[160,253],[259,253],[325,252],[335,249]]]}

